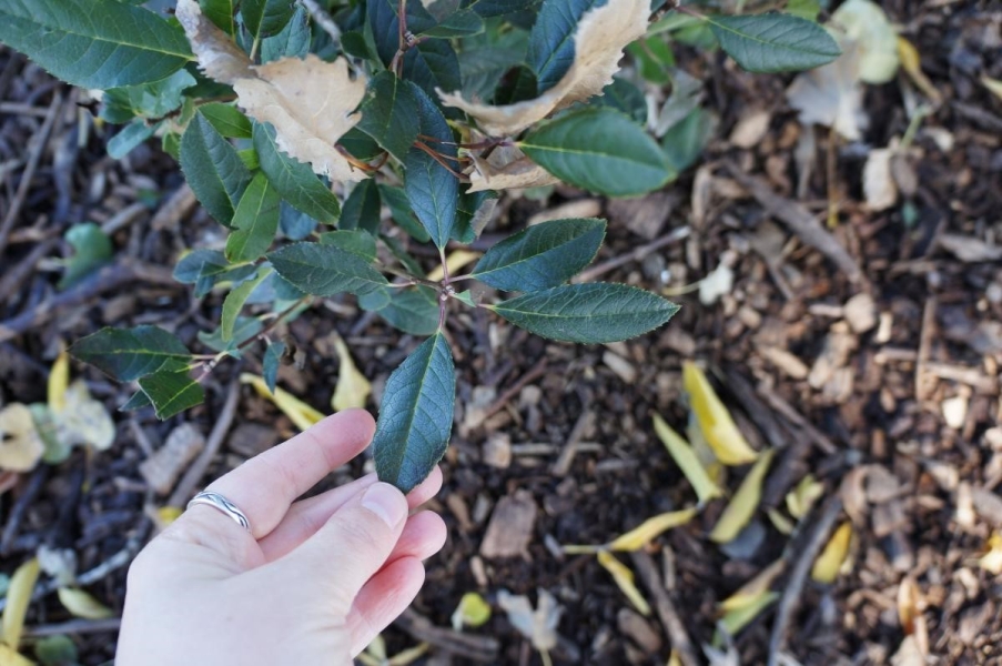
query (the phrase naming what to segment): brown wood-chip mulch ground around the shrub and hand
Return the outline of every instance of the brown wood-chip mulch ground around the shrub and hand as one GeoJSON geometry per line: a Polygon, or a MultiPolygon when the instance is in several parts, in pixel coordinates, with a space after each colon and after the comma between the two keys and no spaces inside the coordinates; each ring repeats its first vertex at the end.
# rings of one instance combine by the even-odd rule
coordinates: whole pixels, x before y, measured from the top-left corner
{"type": "MultiPolygon", "coordinates": [[[[981,82],[1002,79],[1002,6],[882,6],[942,97],[893,159],[895,205],[864,204],[866,147],[908,130],[920,93],[907,77],[867,87],[863,142],[837,142],[800,125],[783,94],[791,77],[748,74],[689,50],[679,61],[706,82],[719,114],[699,165],[641,200],[557,189],[545,202],[503,202],[480,246],[540,214],[607,216],[591,279],[664,291],[682,310],[660,331],[607,346],[547,342],[483,310],[453,317],[456,424],[432,502],[449,539],[428,562],[413,612],[385,634],[391,654],[427,642],[414,663],[542,664],[496,602],[506,589],[535,603],[545,589],[563,608],[553,663],[665,664],[687,643],[705,663],[718,604],[779,562],[779,598],[710,663],[765,664],[772,654],[803,665],[1002,664],[1002,578],[981,559],[1002,528],[1002,99],[981,82]],[[832,204],[839,223],[829,229],[832,204]],[[721,264],[733,281],[711,304],[685,289],[721,264]],[[777,455],[737,539],[707,537],[727,504],[715,501],[644,552],[620,555],[655,608],[644,617],[594,555],[560,546],[607,543],[692,503],[651,423],[659,414],[685,432],[688,360],[707,370],[751,445],[777,455]],[[783,534],[767,509],[787,515],[788,493],[808,475],[823,492],[783,534]],[[846,522],[849,558],[834,583],[818,583],[810,566],[846,522]],[[457,635],[449,617],[468,592],[494,614],[457,635]]],[[[221,296],[195,299],[170,272],[185,248],[221,234],[173,161],[153,144],[107,157],[109,132],[94,125],[83,92],[10,51],[0,51],[0,403],[44,402],[60,344],[103,325],[156,324],[196,349],[221,296]],[[115,261],[58,291],[63,233],[84,221],[111,235],[115,261]]],[[[337,382],[332,333],[376,396],[418,342],[347,299],[287,329],[302,369],[283,366],[280,385],[322,411],[337,382]]],[[[223,363],[206,380],[205,405],[161,423],[114,412],[129,387],[74,363],[115,414],[115,444],[3,477],[0,569],[12,573],[41,545],[69,548],[85,588],[120,612],[124,565],[171,500],[139,471],[149,453],[183,423],[215,440],[219,453],[191,490],[295,432],[237,381],[260,371],[257,351],[223,363]]],[[[364,467],[356,461],[318,490],[364,467]]],[[[730,472],[731,492],[745,473],[730,472]]],[[[111,659],[117,620],[74,619],[47,592],[29,613],[29,636],[69,634],[82,664],[111,659]]]]}

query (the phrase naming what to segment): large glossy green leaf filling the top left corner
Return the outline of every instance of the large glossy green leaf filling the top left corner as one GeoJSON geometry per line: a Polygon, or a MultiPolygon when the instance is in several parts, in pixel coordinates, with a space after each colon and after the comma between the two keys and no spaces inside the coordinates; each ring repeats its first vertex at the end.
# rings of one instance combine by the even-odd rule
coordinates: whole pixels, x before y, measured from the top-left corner
{"type": "Polygon", "coordinates": [[[3,2],[0,42],[80,88],[158,81],[191,59],[176,27],[117,0],[3,2]]]}

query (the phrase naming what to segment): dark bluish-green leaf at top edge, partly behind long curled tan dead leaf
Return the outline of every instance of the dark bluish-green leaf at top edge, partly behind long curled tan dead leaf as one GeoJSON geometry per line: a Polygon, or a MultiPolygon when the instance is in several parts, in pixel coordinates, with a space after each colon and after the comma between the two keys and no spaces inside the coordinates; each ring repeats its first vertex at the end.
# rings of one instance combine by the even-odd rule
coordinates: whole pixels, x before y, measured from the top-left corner
{"type": "Polygon", "coordinates": [[[528,62],[546,92],[574,63],[574,34],[581,17],[608,0],[549,0],[544,2],[529,33],[528,62]]]}

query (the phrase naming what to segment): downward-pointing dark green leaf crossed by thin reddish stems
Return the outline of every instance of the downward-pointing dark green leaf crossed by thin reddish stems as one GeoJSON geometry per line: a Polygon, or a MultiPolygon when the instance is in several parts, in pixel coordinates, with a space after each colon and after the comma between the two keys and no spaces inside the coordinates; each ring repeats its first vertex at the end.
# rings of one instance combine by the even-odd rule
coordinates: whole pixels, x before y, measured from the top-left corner
{"type": "MultiPolygon", "coordinates": [[[[453,141],[453,132],[442,112],[423,93],[416,94],[421,110],[421,133],[441,142],[432,145],[445,159],[457,154],[453,141]]],[[[457,221],[459,200],[459,181],[448,169],[437,162],[424,150],[412,148],[404,160],[404,191],[411,208],[422,225],[427,230],[432,241],[445,248],[457,221]]]]}

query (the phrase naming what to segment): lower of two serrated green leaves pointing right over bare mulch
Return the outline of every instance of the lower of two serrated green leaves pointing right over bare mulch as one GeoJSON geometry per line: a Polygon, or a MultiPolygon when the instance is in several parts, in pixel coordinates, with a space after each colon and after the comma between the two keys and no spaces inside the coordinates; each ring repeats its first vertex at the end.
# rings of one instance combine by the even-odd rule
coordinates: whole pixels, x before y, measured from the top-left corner
{"type": "Polygon", "coordinates": [[[625,284],[568,284],[492,307],[516,326],[553,340],[616,342],[657,329],[678,305],[625,284]]]}

